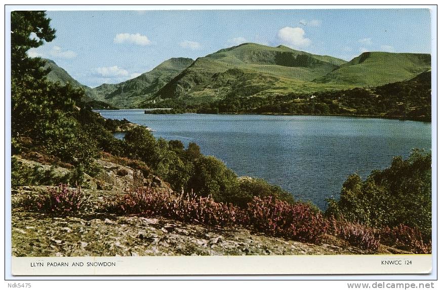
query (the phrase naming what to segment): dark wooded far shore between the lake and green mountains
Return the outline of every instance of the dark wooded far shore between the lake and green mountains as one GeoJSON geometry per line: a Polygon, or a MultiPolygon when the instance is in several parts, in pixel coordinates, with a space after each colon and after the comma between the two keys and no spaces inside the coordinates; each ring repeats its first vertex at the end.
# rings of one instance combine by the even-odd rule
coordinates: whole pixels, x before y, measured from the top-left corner
{"type": "Polygon", "coordinates": [[[431,121],[431,72],[425,71],[409,80],[373,88],[329,90],[309,94],[289,93],[259,98],[234,92],[212,102],[200,101],[194,104],[186,103],[182,99],[173,101],[167,99],[157,102],[155,106],[173,108],[158,110],[157,113],[162,114],[176,112],[316,114],[431,121]]]}

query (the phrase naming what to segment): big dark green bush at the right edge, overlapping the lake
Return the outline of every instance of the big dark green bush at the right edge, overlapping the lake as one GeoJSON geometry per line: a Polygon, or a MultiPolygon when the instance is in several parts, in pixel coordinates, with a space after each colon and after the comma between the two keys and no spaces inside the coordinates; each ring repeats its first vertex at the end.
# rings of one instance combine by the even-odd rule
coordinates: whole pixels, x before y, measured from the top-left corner
{"type": "Polygon", "coordinates": [[[351,175],[338,201],[329,200],[329,216],[381,228],[404,224],[431,238],[431,154],[413,151],[394,157],[390,168],[365,180],[351,175]]]}

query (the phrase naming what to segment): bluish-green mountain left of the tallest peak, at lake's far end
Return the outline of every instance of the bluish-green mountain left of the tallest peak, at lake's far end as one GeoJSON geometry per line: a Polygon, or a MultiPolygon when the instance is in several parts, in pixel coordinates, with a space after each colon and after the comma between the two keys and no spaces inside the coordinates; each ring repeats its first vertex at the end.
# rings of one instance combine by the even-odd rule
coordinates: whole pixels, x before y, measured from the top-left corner
{"type": "Polygon", "coordinates": [[[192,63],[190,58],[171,58],[135,78],[119,84],[103,84],[93,92],[98,100],[119,108],[137,107],[192,63]]]}

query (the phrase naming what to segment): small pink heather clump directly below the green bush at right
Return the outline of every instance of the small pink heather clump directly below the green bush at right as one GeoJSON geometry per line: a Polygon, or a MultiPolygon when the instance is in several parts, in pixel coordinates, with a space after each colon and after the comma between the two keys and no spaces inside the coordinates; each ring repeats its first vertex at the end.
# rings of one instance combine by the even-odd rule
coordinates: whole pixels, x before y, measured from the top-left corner
{"type": "Polygon", "coordinates": [[[380,237],[377,231],[359,223],[350,223],[330,219],[329,231],[332,235],[340,237],[351,245],[367,250],[377,250],[380,244],[380,237]]]}

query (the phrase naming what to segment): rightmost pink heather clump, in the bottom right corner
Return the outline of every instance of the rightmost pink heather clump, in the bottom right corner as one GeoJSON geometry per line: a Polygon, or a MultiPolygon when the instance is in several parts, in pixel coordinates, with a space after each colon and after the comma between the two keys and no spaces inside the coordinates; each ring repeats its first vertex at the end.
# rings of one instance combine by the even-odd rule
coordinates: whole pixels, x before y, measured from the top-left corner
{"type": "Polygon", "coordinates": [[[431,254],[431,242],[424,242],[419,229],[402,224],[394,228],[383,228],[381,230],[381,242],[385,245],[411,251],[416,254],[431,254]]]}

